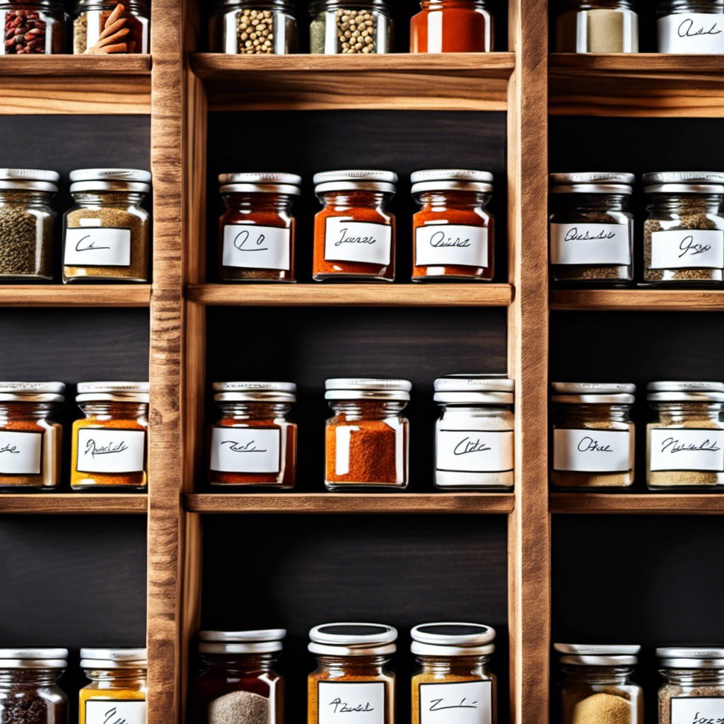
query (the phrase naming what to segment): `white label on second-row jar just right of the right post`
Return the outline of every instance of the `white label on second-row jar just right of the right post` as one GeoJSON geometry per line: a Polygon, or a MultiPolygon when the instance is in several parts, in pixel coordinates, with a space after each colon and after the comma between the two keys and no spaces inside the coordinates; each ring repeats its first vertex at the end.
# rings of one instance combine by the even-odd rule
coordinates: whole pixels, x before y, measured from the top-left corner
{"type": "Polygon", "coordinates": [[[551,224],[551,264],[631,264],[631,224],[551,224]]]}

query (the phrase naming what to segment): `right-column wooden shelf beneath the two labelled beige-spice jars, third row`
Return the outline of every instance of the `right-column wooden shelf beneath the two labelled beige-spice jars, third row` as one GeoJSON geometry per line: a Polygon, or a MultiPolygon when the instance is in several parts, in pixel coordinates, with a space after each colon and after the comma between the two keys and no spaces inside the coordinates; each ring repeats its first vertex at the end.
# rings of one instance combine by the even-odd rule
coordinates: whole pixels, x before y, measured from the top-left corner
{"type": "Polygon", "coordinates": [[[723,515],[724,495],[720,493],[552,493],[550,509],[552,513],[723,515]]]}

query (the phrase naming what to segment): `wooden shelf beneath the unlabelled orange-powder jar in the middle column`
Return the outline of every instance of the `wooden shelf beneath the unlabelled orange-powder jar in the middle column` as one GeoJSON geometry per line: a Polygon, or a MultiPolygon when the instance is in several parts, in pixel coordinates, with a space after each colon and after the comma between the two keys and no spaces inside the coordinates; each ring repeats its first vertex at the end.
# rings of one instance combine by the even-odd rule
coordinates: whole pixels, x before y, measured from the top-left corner
{"type": "Polygon", "coordinates": [[[510,493],[187,494],[190,513],[512,513],[510,493]]]}

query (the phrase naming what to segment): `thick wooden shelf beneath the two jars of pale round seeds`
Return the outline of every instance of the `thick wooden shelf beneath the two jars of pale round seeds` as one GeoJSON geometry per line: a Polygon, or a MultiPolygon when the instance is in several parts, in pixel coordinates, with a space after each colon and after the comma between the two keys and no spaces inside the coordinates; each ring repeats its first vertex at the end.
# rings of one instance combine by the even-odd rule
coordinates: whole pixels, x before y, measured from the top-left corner
{"type": "Polygon", "coordinates": [[[505,111],[515,54],[199,53],[191,67],[206,84],[212,110],[505,111]]]}

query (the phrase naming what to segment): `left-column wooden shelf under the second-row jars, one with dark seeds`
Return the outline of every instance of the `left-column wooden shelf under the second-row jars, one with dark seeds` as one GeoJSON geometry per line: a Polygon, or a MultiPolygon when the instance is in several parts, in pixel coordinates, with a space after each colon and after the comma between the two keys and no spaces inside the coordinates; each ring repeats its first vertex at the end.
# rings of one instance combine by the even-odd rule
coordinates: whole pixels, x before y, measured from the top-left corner
{"type": "Polygon", "coordinates": [[[147,307],[151,285],[0,285],[0,307],[147,307]]]}

